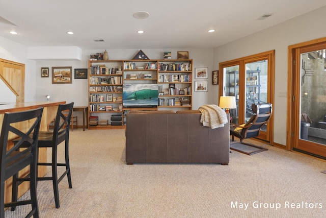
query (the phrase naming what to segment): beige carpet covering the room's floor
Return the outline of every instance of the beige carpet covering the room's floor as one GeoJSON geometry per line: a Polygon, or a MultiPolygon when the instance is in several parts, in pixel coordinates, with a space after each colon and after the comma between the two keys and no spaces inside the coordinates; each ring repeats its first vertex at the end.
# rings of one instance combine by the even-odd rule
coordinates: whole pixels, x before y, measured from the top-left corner
{"type": "Polygon", "coordinates": [[[56,209],[51,182],[39,182],[40,217],[326,217],[322,160],[265,146],[232,151],[229,165],[126,165],[124,130],[70,134],[73,188],[60,183],[56,209]]]}

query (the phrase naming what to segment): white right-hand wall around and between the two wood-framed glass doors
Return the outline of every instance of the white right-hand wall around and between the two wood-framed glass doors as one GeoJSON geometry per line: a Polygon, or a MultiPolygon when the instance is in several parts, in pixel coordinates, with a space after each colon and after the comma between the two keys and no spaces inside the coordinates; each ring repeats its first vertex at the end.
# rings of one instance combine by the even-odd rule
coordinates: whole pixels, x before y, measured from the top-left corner
{"type": "Polygon", "coordinates": [[[326,36],[323,20],[326,7],[298,16],[214,49],[214,68],[220,62],[275,50],[274,141],[286,144],[287,49],[289,45],[326,36]]]}

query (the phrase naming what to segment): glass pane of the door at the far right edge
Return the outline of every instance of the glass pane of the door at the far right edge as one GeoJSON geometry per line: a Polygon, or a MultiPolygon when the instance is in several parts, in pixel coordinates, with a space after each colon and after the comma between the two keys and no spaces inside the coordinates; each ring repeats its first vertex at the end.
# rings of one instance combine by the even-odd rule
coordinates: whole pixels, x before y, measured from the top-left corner
{"type": "Polygon", "coordinates": [[[299,138],[326,144],[326,50],[301,54],[299,138]]]}

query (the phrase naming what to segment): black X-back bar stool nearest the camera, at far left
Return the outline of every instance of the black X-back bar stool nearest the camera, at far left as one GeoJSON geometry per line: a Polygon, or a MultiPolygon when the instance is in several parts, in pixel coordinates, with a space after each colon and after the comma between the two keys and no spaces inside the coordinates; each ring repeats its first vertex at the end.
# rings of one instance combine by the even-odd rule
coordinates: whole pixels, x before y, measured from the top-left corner
{"type": "MultiPolygon", "coordinates": [[[[11,207],[14,210],[16,206],[31,204],[32,210],[26,217],[39,217],[36,191],[37,177],[37,143],[41,124],[43,108],[5,113],[1,136],[0,136],[0,167],[1,167],[1,190],[0,190],[0,217],[5,217],[5,207],[11,207]],[[28,121],[26,121],[28,120],[28,121]],[[29,123],[27,130],[20,130],[21,122],[29,123]],[[8,135],[14,134],[20,137],[12,148],[8,148],[8,135]],[[20,148],[24,148],[20,150],[20,148]],[[5,181],[10,177],[17,177],[18,172],[26,166],[30,166],[30,192],[31,199],[17,201],[17,195],[11,203],[5,203],[5,181]]],[[[14,189],[14,187],[13,187],[14,189]]],[[[17,193],[17,192],[16,192],[17,193]]]]}

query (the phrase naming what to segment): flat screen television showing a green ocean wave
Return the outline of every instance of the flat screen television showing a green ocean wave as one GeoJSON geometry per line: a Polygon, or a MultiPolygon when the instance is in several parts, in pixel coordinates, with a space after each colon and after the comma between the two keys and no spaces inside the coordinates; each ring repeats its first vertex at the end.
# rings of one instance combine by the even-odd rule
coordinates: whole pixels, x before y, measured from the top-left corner
{"type": "Polygon", "coordinates": [[[123,107],[157,107],[157,84],[123,84],[123,107]]]}

